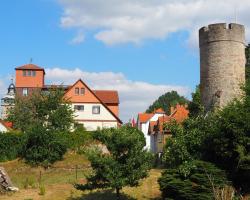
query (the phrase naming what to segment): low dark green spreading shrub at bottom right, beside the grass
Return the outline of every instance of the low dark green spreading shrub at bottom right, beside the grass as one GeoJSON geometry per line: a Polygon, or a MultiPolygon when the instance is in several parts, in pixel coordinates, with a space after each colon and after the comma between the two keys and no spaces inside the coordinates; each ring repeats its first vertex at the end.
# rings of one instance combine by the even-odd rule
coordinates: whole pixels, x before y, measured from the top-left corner
{"type": "Polygon", "coordinates": [[[228,185],[225,171],[204,161],[193,161],[190,174],[179,169],[167,169],[159,179],[163,198],[181,200],[213,199],[215,188],[228,185]]]}

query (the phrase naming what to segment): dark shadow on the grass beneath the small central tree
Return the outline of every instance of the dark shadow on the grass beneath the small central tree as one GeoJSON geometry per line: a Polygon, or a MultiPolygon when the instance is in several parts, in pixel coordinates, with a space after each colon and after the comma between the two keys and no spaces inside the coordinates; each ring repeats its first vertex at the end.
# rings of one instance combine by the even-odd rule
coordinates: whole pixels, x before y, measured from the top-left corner
{"type": "MultiPolygon", "coordinates": [[[[83,194],[81,197],[70,197],[67,200],[116,200],[116,193],[112,190],[104,191],[93,191],[88,194],[83,194]]],[[[120,200],[136,200],[133,197],[130,197],[127,194],[121,193],[120,200]]]]}

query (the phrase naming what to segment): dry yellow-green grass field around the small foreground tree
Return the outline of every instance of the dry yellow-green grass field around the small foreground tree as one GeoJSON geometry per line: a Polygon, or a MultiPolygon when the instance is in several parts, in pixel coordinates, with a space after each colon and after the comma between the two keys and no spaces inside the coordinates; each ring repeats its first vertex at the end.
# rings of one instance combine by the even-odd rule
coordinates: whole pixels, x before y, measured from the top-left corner
{"type": "MultiPolygon", "coordinates": [[[[84,182],[84,177],[90,169],[90,164],[83,155],[67,153],[63,161],[56,162],[47,170],[31,168],[20,160],[0,163],[0,166],[6,169],[13,184],[20,189],[16,193],[1,195],[1,200],[116,199],[115,194],[110,190],[90,193],[74,189],[73,183],[84,182]],[[45,188],[45,194],[40,195],[43,188],[45,188]]],[[[161,170],[153,169],[150,171],[150,176],[143,180],[139,187],[124,188],[123,199],[159,199],[160,191],[157,179],[160,173],[161,170]]]]}

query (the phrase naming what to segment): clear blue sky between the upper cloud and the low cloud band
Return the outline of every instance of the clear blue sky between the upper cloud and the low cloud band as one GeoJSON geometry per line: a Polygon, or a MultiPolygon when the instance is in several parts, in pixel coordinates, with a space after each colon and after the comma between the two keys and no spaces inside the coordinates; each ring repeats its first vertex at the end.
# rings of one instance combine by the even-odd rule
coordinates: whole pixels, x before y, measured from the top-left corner
{"type": "Polygon", "coordinates": [[[0,12],[1,75],[33,62],[45,67],[79,67],[86,71],[123,72],[129,79],[152,83],[198,83],[199,58],[185,43],[185,32],[143,44],[106,46],[89,33],[82,44],[70,40],[75,30],[60,27],[63,9],[56,1],[10,0],[0,12]],[[6,20],[6,16],[8,20],[6,20]],[[3,70],[2,70],[3,68],[3,70]],[[187,78],[188,76],[188,78],[187,78]]]}

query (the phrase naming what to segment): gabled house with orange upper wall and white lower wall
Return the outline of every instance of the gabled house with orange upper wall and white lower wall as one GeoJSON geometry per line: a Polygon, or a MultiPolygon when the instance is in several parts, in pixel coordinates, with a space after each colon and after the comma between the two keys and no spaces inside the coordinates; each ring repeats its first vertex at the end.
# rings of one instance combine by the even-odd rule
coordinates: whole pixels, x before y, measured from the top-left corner
{"type": "Polygon", "coordinates": [[[117,91],[91,90],[81,79],[65,91],[74,109],[74,119],[93,131],[97,128],[119,127],[119,97],[117,91]]]}

